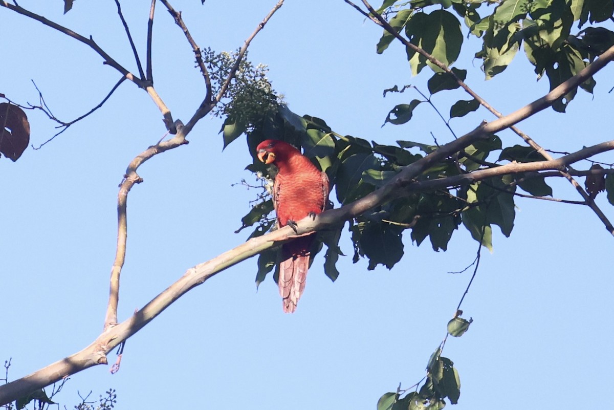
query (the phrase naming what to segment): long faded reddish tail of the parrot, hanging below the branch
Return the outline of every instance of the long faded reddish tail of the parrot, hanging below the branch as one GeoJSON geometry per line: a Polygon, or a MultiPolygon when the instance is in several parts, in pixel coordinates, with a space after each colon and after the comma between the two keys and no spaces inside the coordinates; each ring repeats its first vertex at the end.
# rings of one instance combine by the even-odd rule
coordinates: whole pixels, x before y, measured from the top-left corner
{"type": "Polygon", "coordinates": [[[278,284],[286,313],[295,311],[298,300],[305,289],[309,268],[309,249],[314,238],[314,235],[303,236],[281,247],[278,284]]]}

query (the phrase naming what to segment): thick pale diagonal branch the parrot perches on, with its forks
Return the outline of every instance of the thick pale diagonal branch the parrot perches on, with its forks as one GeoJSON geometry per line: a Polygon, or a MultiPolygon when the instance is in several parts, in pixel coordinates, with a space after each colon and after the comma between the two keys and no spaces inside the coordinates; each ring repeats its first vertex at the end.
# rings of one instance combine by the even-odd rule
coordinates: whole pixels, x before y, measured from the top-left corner
{"type": "MultiPolygon", "coordinates": [[[[596,64],[597,61],[593,64],[596,64]]],[[[591,64],[591,65],[593,65],[591,64]]],[[[464,149],[468,145],[477,141],[481,138],[486,138],[492,133],[501,131],[505,128],[510,127],[511,125],[523,120],[524,118],[533,115],[540,110],[544,109],[548,104],[551,104],[553,101],[558,98],[558,96],[565,95],[569,92],[573,87],[577,87],[578,84],[583,82],[586,79],[587,75],[594,74],[598,68],[603,67],[604,63],[598,63],[597,68],[587,68],[586,72],[580,72],[580,74],[575,75],[572,79],[567,80],[562,83],[561,86],[555,88],[553,91],[548,93],[543,98],[534,101],[534,103],[528,104],[523,109],[517,110],[515,113],[510,114],[506,117],[495,120],[491,123],[482,123],[478,128],[471,131],[468,134],[465,134],[459,139],[456,139],[448,144],[441,145],[440,148],[430,153],[424,158],[406,166],[401,172],[397,174],[393,179],[391,179],[386,185],[379,188],[376,191],[364,196],[363,198],[357,200],[354,203],[348,204],[346,206],[340,207],[339,209],[332,209],[330,211],[322,212],[322,214],[318,215],[316,219],[311,219],[311,217],[306,217],[305,219],[299,221],[297,223],[297,233],[303,234],[316,230],[323,230],[327,228],[331,228],[333,226],[338,226],[340,223],[348,219],[352,219],[357,217],[373,207],[379,206],[381,204],[386,203],[387,201],[395,198],[398,195],[404,195],[408,189],[417,189],[414,187],[419,187],[419,184],[426,184],[426,182],[416,182],[415,178],[418,177],[422,172],[426,169],[430,168],[433,164],[438,161],[443,160],[456,152],[464,149]]],[[[172,149],[179,145],[185,144],[185,136],[182,132],[182,127],[179,126],[177,136],[169,141],[162,142],[160,145],[156,145],[150,147],[146,152],[139,155],[139,157],[135,158],[133,162],[128,167],[126,171],[126,179],[122,182],[122,186],[125,187],[124,191],[120,190],[120,200],[121,197],[127,195],[130,188],[139,182],[138,174],[136,174],[136,169],[140,164],[144,161],[152,158],[153,155],[156,155],[159,152],[163,152],[168,149],[172,149]]],[[[604,152],[606,150],[614,149],[614,141],[604,142],[602,144],[594,145],[593,147],[588,147],[586,149],[582,149],[578,152],[571,153],[569,155],[565,155],[564,157],[558,158],[557,160],[551,161],[536,161],[532,163],[511,163],[503,166],[499,166],[491,169],[483,169],[480,171],[474,171],[470,174],[457,176],[457,177],[449,177],[441,180],[434,180],[429,182],[428,187],[422,187],[424,189],[431,189],[434,187],[434,184],[441,184],[441,186],[451,186],[450,182],[457,183],[471,183],[478,178],[484,179],[488,177],[492,177],[495,175],[508,174],[513,172],[530,172],[530,171],[543,171],[546,169],[564,169],[574,162],[583,160],[585,158],[590,157],[591,155],[595,155],[599,152],[604,152]],[[454,181],[453,178],[466,178],[465,180],[454,181]]],[[[123,204],[124,208],[122,212],[125,213],[125,203],[123,204]]],[[[120,210],[119,210],[120,211],[120,210]]],[[[120,226],[120,228],[122,228],[120,226]]],[[[123,226],[125,228],[125,225],[123,226]]],[[[188,290],[196,287],[210,277],[215,274],[227,269],[230,266],[236,265],[247,258],[250,258],[257,253],[262,252],[265,249],[269,249],[270,247],[281,244],[283,241],[292,240],[295,238],[295,231],[290,226],[285,226],[279,230],[273,231],[271,233],[265,234],[263,236],[259,236],[257,238],[249,239],[249,241],[244,244],[235,247],[235,249],[228,250],[227,252],[222,253],[221,255],[201,263],[199,265],[194,266],[193,268],[188,269],[185,274],[177,280],[174,284],[166,288],[163,292],[161,292],[158,296],[153,298],[152,301],[146,304],[141,310],[137,311],[133,316],[129,319],[119,323],[115,326],[106,326],[103,333],[96,338],[94,342],[90,344],[90,346],[85,349],[73,354],[69,357],[64,358],[58,362],[53,363],[52,365],[46,366],[28,376],[22,377],[16,381],[10,382],[6,385],[0,386],[0,405],[9,403],[16,398],[26,395],[27,393],[45,387],[46,385],[52,384],[63,377],[69,376],[70,374],[77,373],[84,369],[90,368],[91,366],[106,364],[107,359],[106,355],[118,344],[126,339],[130,338],[130,336],[134,335],[137,331],[139,331],[142,327],[146,326],[151,320],[153,320],[158,314],[164,311],[168,306],[173,304],[174,301],[179,299],[182,295],[184,295],[188,290]]],[[[124,238],[125,239],[125,238],[124,238]]],[[[125,250],[125,243],[124,243],[125,250]]],[[[122,262],[123,263],[123,262],[122,262]]],[[[117,280],[119,283],[119,273],[117,275],[117,280]]],[[[117,305],[115,304],[115,308],[117,305]]],[[[107,312],[107,324],[111,324],[113,322],[113,313],[109,315],[107,312]]],[[[117,317],[115,311],[115,318],[117,317]]]]}

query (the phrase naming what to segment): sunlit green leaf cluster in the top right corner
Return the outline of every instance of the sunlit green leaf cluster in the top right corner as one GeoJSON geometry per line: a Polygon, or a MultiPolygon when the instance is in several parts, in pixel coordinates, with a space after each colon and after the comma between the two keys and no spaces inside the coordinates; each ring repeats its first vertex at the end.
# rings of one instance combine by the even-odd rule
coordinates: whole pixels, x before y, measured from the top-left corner
{"type": "MultiPolygon", "coordinates": [[[[378,11],[391,17],[391,26],[404,32],[411,44],[445,66],[461,53],[462,31],[480,39],[481,50],[475,57],[482,61],[486,79],[504,71],[523,48],[537,78],[548,77],[550,90],[614,45],[614,32],[598,25],[614,18],[612,0],[386,0],[378,11]],[[578,31],[572,33],[576,22],[578,31]]],[[[384,52],[394,38],[384,30],[377,52],[384,52]]],[[[413,75],[426,66],[444,71],[416,50],[406,47],[406,51],[413,75]]],[[[595,85],[591,77],[580,87],[593,93],[595,85]]],[[[574,89],[556,101],[553,109],[564,112],[575,93],[574,89]]]]}

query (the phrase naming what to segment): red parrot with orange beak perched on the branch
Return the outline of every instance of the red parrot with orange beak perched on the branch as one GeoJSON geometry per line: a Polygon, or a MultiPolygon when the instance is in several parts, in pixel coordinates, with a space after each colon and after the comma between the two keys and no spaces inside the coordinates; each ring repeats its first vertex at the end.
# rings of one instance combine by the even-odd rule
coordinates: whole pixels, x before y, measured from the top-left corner
{"type": "MultiPolygon", "coordinates": [[[[267,139],[256,148],[258,159],[279,169],[273,184],[277,223],[295,229],[296,221],[324,211],[328,203],[328,177],[292,145],[267,139]]],[[[313,235],[301,236],[282,245],[279,262],[279,293],[284,312],[292,313],[305,289],[309,249],[313,235]]]]}

